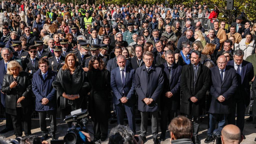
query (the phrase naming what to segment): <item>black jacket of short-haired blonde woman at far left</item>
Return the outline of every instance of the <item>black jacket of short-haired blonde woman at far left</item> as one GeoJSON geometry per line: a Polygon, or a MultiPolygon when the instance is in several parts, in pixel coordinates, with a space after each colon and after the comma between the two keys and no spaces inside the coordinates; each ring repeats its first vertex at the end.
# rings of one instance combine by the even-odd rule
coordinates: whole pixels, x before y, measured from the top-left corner
{"type": "Polygon", "coordinates": [[[5,106],[6,112],[11,115],[17,115],[16,113],[16,103],[18,98],[24,96],[25,99],[20,103],[22,107],[29,107],[31,105],[31,80],[29,78],[28,73],[22,71],[19,73],[19,76],[16,78],[18,85],[12,89],[10,89],[10,84],[14,81],[12,75],[5,74],[3,86],[1,88],[2,92],[6,94],[5,98],[5,106]]]}

